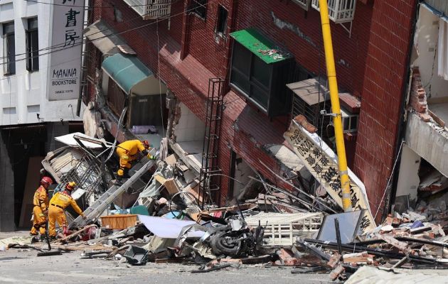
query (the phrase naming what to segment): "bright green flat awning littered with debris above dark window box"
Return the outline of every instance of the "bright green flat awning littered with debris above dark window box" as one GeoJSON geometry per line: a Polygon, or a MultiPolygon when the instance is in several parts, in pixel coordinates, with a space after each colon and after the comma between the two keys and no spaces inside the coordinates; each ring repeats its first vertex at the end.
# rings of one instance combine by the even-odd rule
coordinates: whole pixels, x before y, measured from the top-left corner
{"type": "Polygon", "coordinates": [[[280,50],[272,40],[266,38],[255,28],[235,31],[230,33],[230,36],[267,64],[292,58],[291,54],[280,50]]]}

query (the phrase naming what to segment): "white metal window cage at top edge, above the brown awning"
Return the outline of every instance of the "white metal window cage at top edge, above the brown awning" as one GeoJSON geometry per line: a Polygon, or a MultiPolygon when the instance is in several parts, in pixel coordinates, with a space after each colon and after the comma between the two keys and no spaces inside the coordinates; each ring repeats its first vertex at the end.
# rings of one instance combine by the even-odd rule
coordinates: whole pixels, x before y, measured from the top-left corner
{"type": "Polygon", "coordinates": [[[124,0],[144,20],[168,18],[171,13],[171,0],[124,0]]]}

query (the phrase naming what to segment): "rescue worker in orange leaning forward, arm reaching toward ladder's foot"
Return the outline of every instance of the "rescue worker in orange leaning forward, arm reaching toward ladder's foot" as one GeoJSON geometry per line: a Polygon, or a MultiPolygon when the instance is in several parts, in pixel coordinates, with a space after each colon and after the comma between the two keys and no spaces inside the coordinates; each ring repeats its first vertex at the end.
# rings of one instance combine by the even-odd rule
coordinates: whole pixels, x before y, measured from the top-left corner
{"type": "Polygon", "coordinates": [[[65,190],[62,192],[56,192],[50,200],[50,208],[48,209],[48,234],[50,236],[50,241],[56,239],[56,222],[59,226],[63,227],[64,233],[67,232],[67,218],[65,217],[64,209],[71,205],[76,213],[85,219],[84,214],[76,201],[71,196],[72,191],[75,189],[75,182],[68,182],[65,185],[65,190]]]}

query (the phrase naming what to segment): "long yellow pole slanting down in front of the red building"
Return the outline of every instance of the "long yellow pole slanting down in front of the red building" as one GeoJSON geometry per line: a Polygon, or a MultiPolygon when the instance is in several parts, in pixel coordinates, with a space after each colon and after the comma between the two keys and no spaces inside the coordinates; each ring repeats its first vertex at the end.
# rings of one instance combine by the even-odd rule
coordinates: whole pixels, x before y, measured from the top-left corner
{"type": "Polygon", "coordinates": [[[339,106],[338,82],[336,81],[336,67],[334,65],[333,43],[331,42],[329,7],[327,0],[319,0],[322,23],[322,36],[324,37],[326,75],[329,80],[331,109],[334,116],[334,132],[336,138],[336,151],[338,153],[338,168],[341,175],[342,208],[344,212],[351,212],[350,179],[347,171],[346,146],[343,143],[342,115],[339,106]]]}

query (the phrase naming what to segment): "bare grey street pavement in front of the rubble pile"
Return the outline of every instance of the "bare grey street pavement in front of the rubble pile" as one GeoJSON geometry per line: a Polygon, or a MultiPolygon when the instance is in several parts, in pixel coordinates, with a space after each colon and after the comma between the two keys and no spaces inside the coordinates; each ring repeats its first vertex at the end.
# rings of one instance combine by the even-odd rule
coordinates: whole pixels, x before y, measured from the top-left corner
{"type": "Polygon", "coordinates": [[[9,249],[0,251],[0,283],[332,283],[329,274],[292,274],[291,268],[242,266],[208,273],[191,273],[199,266],[177,263],[146,263],[129,266],[119,261],[81,258],[81,252],[62,256],[37,257],[37,251],[9,249]]]}

